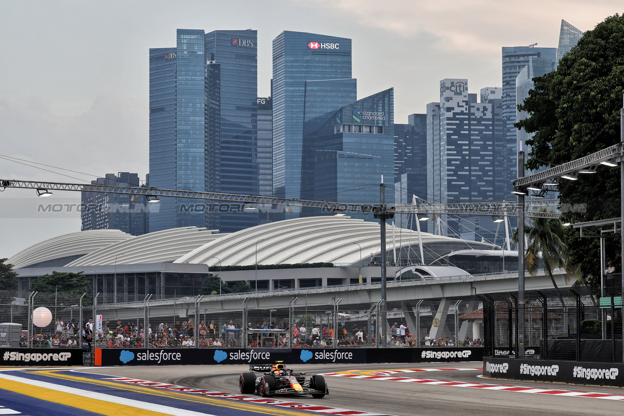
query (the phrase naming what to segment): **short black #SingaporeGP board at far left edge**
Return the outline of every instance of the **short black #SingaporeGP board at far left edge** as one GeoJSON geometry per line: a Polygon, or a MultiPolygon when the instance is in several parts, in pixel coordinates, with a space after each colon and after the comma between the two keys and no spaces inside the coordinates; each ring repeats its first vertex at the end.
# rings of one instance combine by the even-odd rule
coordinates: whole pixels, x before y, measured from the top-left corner
{"type": "Polygon", "coordinates": [[[2,348],[0,366],[82,366],[82,349],[2,348]]]}

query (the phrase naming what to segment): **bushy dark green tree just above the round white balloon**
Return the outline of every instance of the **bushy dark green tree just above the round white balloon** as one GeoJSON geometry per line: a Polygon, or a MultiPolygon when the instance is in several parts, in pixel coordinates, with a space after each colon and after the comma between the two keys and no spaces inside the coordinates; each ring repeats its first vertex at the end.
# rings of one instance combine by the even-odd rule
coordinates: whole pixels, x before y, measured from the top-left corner
{"type": "MultiPolygon", "coordinates": [[[[46,301],[54,301],[58,305],[71,304],[75,301],[76,295],[87,292],[89,281],[82,273],[84,272],[52,272],[52,274],[39,276],[31,283],[31,291],[40,292],[37,300],[41,300],[44,296],[46,301]]],[[[90,295],[82,298],[82,305],[90,305],[90,303],[90,295]]]]}

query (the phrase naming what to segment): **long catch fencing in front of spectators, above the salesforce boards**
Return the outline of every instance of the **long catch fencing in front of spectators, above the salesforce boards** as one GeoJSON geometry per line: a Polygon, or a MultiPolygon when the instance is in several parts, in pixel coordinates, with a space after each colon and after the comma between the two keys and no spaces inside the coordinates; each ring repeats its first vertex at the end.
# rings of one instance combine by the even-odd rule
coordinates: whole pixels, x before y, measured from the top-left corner
{"type": "Polygon", "coordinates": [[[0,292],[0,328],[11,326],[15,334],[1,336],[0,346],[67,346],[89,351],[148,347],[457,347],[480,346],[483,338],[482,315],[471,315],[475,311],[478,315],[482,306],[477,296],[384,305],[381,301],[346,303],[340,298],[314,303],[307,298],[247,295],[158,296],[154,300],[151,295],[126,295],[120,301],[112,294],[90,299],[83,294],[0,292]],[[40,306],[51,314],[51,321],[44,326],[37,326],[37,317],[33,319],[33,311],[40,306]],[[386,331],[380,326],[383,314],[386,331]],[[60,331],[57,321],[62,323],[60,331]],[[92,329],[92,335],[83,331],[85,326],[92,329]]]}

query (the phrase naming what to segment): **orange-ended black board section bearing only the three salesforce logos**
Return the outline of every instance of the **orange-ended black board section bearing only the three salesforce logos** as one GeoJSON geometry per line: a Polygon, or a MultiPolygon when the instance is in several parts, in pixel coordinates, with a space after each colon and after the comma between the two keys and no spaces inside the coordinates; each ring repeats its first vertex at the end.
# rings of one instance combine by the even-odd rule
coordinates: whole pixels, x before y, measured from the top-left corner
{"type": "Polygon", "coordinates": [[[341,349],[268,349],[268,348],[149,348],[96,349],[96,366],[171,366],[185,364],[363,364],[366,350],[341,349]]]}

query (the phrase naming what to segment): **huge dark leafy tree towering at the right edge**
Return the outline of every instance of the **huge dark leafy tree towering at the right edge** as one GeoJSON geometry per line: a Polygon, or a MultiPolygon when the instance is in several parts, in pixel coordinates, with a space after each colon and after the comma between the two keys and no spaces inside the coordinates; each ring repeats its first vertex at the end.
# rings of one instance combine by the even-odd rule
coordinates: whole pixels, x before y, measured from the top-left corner
{"type": "MultiPolygon", "coordinates": [[[[526,167],[556,166],[595,153],[620,141],[620,108],[624,92],[624,16],[607,17],[563,56],[557,70],[534,78],[520,110],[529,117],[516,123],[534,138],[526,167]]],[[[620,215],[619,168],[600,166],[597,174],[559,185],[562,219],[583,222],[620,215]],[[572,208],[572,209],[571,209],[572,208]]],[[[597,239],[581,239],[568,227],[562,238],[573,263],[590,283],[600,275],[597,239]]],[[[619,238],[609,240],[607,257],[619,263],[619,238]]]]}

